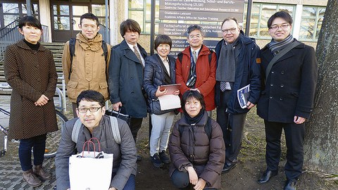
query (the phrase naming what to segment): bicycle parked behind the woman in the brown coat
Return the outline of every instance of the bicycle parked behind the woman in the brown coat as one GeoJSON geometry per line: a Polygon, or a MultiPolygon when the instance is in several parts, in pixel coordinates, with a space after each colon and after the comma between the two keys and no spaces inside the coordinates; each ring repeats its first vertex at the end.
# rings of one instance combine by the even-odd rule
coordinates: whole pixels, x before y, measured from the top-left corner
{"type": "MultiPolygon", "coordinates": [[[[59,94],[59,91],[61,90],[56,88],[56,91],[59,94]]],[[[62,102],[60,102],[60,105],[62,105],[62,102]]],[[[63,113],[61,113],[60,110],[63,110],[63,109],[56,106],[55,111],[56,111],[56,121],[58,123],[58,130],[56,132],[50,132],[46,134],[46,148],[45,148],[44,158],[51,158],[56,155],[56,151],[58,150],[58,144],[61,139],[62,129],[63,127],[65,127],[65,122],[68,121],[68,118],[65,117],[65,115],[63,115],[63,113]]],[[[4,136],[4,150],[0,151],[0,157],[5,156],[7,152],[9,115],[11,115],[11,113],[8,110],[5,110],[4,108],[0,107],[0,120],[1,120],[0,130],[5,135],[4,136]]],[[[19,142],[18,140],[14,140],[14,139],[12,141],[19,142]]]]}

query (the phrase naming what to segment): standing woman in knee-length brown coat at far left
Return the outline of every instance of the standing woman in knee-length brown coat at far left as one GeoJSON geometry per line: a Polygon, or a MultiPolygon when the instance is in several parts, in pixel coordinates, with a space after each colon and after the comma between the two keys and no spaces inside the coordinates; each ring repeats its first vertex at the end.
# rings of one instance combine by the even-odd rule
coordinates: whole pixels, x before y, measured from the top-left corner
{"type": "Polygon", "coordinates": [[[42,182],[37,176],[51,178],[42,163],[46,133],[58,129],[53,101],[58,76],[51,51],[39,44],[42,34],[39,20],[32,16],[21,18],[19,32],[24,39],[8,46],[5,52],[5,77],[13,89],[8,135],[10,139],[20,139],[23,179],[31,186],[39,186],[42,182]]]}

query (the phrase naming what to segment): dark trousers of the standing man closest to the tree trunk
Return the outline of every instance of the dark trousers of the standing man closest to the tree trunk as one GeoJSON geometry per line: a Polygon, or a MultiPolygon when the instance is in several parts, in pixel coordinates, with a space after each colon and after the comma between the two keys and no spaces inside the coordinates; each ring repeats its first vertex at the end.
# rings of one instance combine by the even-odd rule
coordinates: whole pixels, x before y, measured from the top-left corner
{"type": "Polygon", "coordinates": [[[287,163],[284,165],[287,179],[297,179],[303,167],[303,141],[305,124],[268,122],[265,123],[266,153],[268,170],[277,171],[280,163],[280,137],[284,129],[287,141],[287,163]]]}

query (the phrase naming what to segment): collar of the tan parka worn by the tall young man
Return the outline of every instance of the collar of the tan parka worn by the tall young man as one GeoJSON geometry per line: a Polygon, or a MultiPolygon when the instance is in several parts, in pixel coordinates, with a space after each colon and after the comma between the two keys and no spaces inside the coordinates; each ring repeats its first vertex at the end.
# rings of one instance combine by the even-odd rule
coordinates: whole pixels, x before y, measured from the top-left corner
{"type": "Polygon", "coordinates": [[[102,34],[97,33],[93,39],[86,39],[81,32],[76,34],[77,42],[84,50],[99,51],[102,44],[102,34]]]}

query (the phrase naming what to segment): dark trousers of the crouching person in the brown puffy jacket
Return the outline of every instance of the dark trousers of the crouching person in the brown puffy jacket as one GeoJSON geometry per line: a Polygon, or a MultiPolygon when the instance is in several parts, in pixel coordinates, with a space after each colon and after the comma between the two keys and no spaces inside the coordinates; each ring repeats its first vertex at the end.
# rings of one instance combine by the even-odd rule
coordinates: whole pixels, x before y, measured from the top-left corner
{"type": "MultiPolygon", "coordinates": [[[[189,174],[188,172],[180,172],[178,170],[174,170],[173,174],[170,177],[173,185],[178,189],[194,189],[194,185],[189,182],[189,174]]],[[[205,187],[204,189],[215,189],[205,187]]]]}

